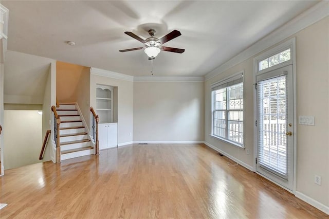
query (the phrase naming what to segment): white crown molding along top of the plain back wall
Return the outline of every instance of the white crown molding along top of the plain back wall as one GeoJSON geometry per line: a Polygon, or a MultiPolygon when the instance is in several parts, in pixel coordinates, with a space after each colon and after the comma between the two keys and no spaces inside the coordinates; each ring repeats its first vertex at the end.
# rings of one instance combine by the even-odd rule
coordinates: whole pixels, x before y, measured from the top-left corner
{"type": "Polygon", "coordinates": [[[134,82],[204,82],[203,76],[136,76],[134,82]]]}

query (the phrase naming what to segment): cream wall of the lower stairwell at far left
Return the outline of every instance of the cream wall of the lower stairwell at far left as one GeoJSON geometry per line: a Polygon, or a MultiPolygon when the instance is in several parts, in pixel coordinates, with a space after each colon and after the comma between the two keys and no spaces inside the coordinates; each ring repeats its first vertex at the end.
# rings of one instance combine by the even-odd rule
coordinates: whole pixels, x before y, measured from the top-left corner
{"type": "Polygon", "coordinates": [[[4,166],[17,168],[42,162],[42,116],[38,111],[5,111],[3,135],[5,139],[4,166]],[[20,137],[17,138],[17,135],[20,137]]]}

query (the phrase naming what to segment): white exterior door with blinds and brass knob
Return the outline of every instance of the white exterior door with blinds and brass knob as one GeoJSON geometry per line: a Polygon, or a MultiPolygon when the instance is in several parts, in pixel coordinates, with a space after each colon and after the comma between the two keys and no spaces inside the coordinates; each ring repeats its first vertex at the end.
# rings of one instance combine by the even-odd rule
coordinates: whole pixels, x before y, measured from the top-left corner
{"type": "Polygon", "coordinates": [[[256,76],[257,172],[293,191],[293,65],[256,76]]]}

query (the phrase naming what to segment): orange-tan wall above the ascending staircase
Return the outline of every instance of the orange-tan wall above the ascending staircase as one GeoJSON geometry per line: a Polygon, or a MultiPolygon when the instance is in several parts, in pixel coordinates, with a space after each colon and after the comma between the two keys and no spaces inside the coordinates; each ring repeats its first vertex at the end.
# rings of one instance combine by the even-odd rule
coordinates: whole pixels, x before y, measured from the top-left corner
{"type": "Polygon", "coordinates": [[[77,102],[89,127],[90,69],[85,66],[56,62],[56,96],[60,103],[77,102]]]}

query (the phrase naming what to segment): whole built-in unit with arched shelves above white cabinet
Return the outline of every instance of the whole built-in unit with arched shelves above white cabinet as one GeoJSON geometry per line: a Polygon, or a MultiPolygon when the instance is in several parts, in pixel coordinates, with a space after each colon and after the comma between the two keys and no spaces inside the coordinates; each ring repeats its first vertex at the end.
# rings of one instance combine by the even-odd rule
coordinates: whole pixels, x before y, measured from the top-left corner
{"type": "Polygon", "coordinates": [[[118,123],[113,119],[113,92],[114,87],[97,85],[96,87],[96,112],[99,116],[98,137],[99,149],[117,147],[118,123]]]}

